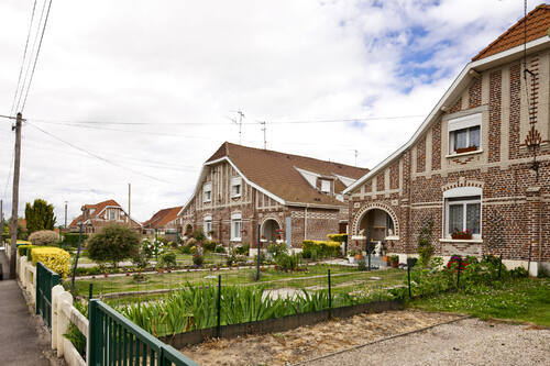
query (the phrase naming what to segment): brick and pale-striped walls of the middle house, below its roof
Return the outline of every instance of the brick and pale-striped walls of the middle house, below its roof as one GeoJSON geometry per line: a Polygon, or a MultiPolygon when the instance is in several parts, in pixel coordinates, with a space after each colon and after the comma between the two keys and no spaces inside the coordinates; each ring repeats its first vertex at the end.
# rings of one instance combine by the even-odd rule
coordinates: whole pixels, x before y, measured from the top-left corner
{"type": "MultiPolygon", "coordinates": [[[[327,240],[327,234],[339,232],[339,222],[348,219],[348,207],[322,208],[315,204],[284,206],[248,185],[242,179],[241,196],[231,197],[231,178],[239,173],[227,162],[207,166],[206,177],[199,182],[197,193],[179,213],[179,224],[185,231],[190,224],[193,229],[205,226],[205,218],[212,222],[212,240],[222,244],[245,244],[256,247],[257,225],[262,233],[270,220],[277,222],[282,229],[282,240],[292,243],[295,248],[301,247],[307,240],[327,240]],[[204,202],[201,187],[211,182],[211,200],[204,202]],[[231,237],[231,218],[241,215],[241,240],[231,237]]],[[[297,203],[299,204],[299,203],[297,203]]]]}

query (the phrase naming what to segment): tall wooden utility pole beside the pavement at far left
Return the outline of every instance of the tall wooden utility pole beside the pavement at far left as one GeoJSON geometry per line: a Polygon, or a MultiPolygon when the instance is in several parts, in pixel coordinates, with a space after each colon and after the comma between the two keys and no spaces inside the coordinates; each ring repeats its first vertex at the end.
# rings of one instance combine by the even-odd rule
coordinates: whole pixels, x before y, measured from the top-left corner
{"type": "Polygon", "coordinates": [[[11,130],[15,130],[15,160],[13,164],[13,190],[11,204],[11,248],[10,248],[10,278],[16,278],[15,274],[15,256],[18,243],[18,209],[19,209],[19,173],[21,164],[21,126],[23,124],[23,115],[18,113],[15,125],[11,130]]]}

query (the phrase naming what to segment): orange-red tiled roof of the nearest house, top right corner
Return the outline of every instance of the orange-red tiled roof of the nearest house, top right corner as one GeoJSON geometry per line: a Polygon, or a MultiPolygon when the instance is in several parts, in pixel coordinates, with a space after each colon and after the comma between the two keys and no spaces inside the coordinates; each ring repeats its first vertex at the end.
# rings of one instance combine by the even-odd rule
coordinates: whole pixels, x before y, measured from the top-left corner
{"type": "Polygon", "coordinates": [[[498,38],[480,52],[472,60],[510,49],[524,44],[524,24],[527,20],[527,42],[547,36],[550,27],[550,5],[540,4],[531,10],[527,16],[510,26],[498,38]]]}

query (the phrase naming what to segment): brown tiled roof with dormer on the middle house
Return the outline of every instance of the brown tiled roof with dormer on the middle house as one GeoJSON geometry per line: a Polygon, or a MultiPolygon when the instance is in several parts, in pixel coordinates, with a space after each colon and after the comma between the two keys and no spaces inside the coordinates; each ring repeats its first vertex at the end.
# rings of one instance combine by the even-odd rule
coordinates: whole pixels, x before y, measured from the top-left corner
{"type": "MultiPolygon", "coordinates": [[[[296,170],[300,168],[321,176],[339,175],[358,179],[369,173],[345,164],[319,160],[270,149],[253,148],[223,143],[207,163],[228,156],[241,173],[252,182],[284,199],[287,202],[342,206],[343,202],[314,189],[296,170]]],[[[344,185],[334,177],[336,190],[341,193],[344,185]]]]}

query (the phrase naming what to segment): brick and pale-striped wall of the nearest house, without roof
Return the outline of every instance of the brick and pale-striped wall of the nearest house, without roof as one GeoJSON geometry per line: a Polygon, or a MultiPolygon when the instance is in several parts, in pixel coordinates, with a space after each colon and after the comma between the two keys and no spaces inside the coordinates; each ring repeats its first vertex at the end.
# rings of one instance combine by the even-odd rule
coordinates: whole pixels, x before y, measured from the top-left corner
{"type": "Polygon", "coordinates": [[[530,169],[532,153],[525,142],[530,125],[518,53],[505,64],[468,73],[448,107],[443,104],[436,111],[431,124],[420,131],[408,148],[386,162],[380,171],[365,176],[367,180],[352,187],[349,192],[352,245],[364,245],[365,240],[359,236],[360,223],[366,212],[378,208],[394,220],[395,235],[387,239],[386,246],[388,252],[399,254],[402,260],[416,253],[421,223],[431,218],[438,255],[502,254],[508,265],[526,266],[530,251],[532,274],[540,265],[550,268],[548,48],[547,42],[527,58],[528,68],[535,73],[527,88],[542,141],[538,152],[539,180],[536,181],[530,169]],[[449,121],[469,115],[481,115],[481,148],[450,154],[449,121]],[[477,240],[451,240],[446,232],[446,192],[460,191],[481,196],[477,240]]]}

